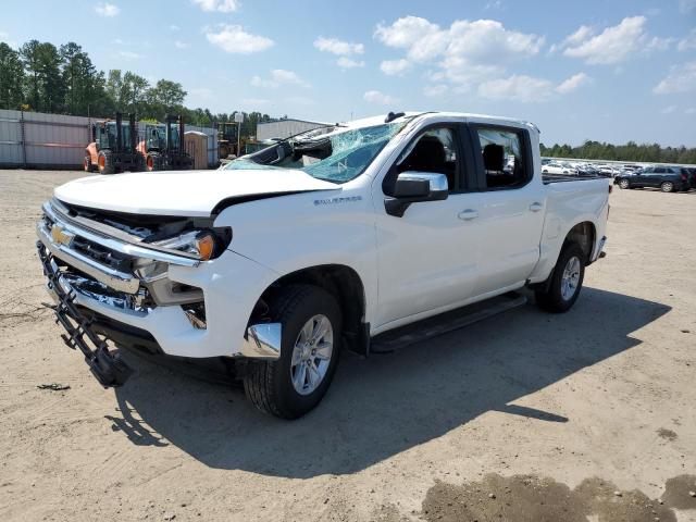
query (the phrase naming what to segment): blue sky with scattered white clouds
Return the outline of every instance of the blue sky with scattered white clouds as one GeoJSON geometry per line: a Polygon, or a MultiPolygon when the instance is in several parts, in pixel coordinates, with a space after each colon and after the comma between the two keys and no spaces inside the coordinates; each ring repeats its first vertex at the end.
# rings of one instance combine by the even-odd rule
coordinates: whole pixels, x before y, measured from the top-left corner
{"type": "Polygon", "coordinates": [[[76,41],[189,107],[345,121],[453,110],[545,144],[696,146],[696,0],[25,0],[0,40],[76,41]]]}

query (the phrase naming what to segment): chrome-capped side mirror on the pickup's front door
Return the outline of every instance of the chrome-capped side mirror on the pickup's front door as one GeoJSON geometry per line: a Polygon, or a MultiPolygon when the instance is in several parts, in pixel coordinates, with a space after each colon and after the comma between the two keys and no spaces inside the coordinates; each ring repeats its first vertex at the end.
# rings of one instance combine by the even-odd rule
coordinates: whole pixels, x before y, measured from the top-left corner
{"type": "Polygon", "coordinates": [[[411,203],[447,199],[447,176],[433,172],[402,172],[394,185],[394,196],[384,200],[389,215],[401,217],[411,203]]]}

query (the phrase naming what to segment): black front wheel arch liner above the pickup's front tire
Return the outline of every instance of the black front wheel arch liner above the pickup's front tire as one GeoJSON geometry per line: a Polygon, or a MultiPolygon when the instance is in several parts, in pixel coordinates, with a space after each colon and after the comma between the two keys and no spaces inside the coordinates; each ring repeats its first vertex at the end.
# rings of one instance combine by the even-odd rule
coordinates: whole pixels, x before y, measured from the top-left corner
{"type": "Polygon", "coordinates": [[[249,324],[264,319],[269,303],[290,284],[309,284],[328,291],[343,313],[344,343],[355,352],[366,355],[370,325],[364,322],[366,296],[358,272],[346,264],[320,264],[289,272],[269,285],[257,301],[249,324]]]}

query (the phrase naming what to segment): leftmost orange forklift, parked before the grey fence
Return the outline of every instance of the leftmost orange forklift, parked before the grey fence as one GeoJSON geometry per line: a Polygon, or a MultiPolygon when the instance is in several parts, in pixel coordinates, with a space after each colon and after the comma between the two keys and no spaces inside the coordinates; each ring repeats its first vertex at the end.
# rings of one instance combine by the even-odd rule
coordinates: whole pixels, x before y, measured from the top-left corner
{"type": "Polygon", "coordinates": [[[115,174],[144,170],[145,161],[136,149],[138,129],[135,114],[128,114],[128,121],[124,122],[122,114],[116,112],[114,120],[95,123],[91,139],[92,142],[85,149],[86,172],[115,174]]]}

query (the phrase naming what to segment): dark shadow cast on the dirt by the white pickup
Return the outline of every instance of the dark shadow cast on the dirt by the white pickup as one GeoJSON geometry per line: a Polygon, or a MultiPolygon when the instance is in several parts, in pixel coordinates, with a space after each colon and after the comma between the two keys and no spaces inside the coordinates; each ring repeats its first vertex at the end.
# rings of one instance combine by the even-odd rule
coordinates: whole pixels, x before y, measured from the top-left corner
{"type": "Polygon", "coordinates": [[[258,412],[240,389],[129,356],[138,372],[115,391],[122,418],[109,419],[134,444],[171,444],[211,468],[352,473],[489,410],[569,422],[562,411],[511,402],[638,345],[631,334],[669,310],[586,287],[566,314],[527,304],[390,355],[344,353],[323,402],[293,422],[258,412]]]}

